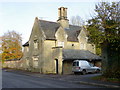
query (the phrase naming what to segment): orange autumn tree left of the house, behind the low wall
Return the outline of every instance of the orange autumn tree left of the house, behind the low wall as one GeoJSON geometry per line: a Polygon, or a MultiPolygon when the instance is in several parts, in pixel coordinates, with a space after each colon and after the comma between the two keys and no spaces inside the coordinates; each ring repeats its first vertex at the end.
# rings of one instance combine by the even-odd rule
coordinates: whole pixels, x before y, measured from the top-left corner
{"type": "Polygon", "coordinates": [[[22,57],[21,35],[8,31],[2,36],[2,60],[20,59],[22,57]]]}

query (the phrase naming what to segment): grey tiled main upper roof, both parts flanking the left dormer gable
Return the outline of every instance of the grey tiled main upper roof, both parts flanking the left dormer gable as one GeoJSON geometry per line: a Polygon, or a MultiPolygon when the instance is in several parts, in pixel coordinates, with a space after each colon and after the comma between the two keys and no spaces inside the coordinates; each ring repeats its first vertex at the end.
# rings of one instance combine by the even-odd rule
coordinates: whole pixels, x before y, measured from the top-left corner
{"type": "MultiPolygon", "coordinates": [[[[39,20],[40,26],[44,31],[47,39],[56,39],[55,33],[60,27],[59,23],[39,20]]],[[[69,28],[66,28],[65,31],[68,34],[68,41],[78,41],[77,37],[80,33],[81,28],[79,26],[69,25],[69,28]]]]}

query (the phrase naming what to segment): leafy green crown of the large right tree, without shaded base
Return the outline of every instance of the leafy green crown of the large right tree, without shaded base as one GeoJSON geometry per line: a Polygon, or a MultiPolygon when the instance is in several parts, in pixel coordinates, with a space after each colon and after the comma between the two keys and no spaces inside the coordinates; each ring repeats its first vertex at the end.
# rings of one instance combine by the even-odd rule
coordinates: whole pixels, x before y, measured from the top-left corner
{"type": "Polygon", "coordinates": [[[96,5],[97,15],[88,20],[90,40],[95,44],[116,42],[120,39],[120,2],[101,2],[96,5]]]}

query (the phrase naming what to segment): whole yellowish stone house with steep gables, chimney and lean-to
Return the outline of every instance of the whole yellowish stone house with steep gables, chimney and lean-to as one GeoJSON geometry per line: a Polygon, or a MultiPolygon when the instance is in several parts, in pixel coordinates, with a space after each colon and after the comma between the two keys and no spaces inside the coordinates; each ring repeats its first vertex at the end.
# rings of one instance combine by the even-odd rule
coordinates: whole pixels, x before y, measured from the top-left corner
{"type": "Polygon", "coordinates": [[[58,9],[58,15],[57,22],[35,18],[29,41],[23,45],[22,67],[33,72],[71,74],[75,59],[100,65],[95,45],[88,43],[86,28],[70,25],[65,7],[58,9]]]}

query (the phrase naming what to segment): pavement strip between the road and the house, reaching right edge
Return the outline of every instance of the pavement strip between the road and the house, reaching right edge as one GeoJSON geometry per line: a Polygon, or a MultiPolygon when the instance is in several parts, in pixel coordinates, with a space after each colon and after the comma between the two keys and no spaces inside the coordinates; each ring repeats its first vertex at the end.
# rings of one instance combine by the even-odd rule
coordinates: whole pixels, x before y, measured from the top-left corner
{"type": "Polygon", "coordinates": [[[92,77],[99,76],[101,74],[55,75],[55,74],[40,74],[40,73],[33,73],[33,72],[22,71],[22,70],[13,70],[13,69],[5,69],[4,71],[18,73],[18,74],[24,74],[24,75],[28,75],[28,76],[34,76],[34,77],[57,79],[57,80],[73,82],[73,83],[102,86],[102,87],[107,87],[107,88],[120,88],[120,83],[92,79],[92,77]]]}

